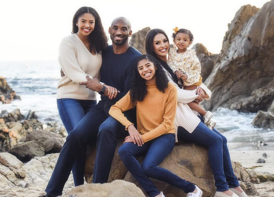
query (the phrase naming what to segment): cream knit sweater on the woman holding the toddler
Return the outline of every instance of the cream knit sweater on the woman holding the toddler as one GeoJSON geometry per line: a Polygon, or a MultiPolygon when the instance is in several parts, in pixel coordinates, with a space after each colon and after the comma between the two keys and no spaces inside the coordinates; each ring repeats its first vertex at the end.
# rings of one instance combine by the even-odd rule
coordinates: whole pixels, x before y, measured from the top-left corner
{"type": "MultiPolygon", "coordinates": [[[[196,95],[196,89],[195,90],[180,89],[178,85],[172,80],[168,71],[166,71],[166,69],[164,69],[164,71],[166,72],[169,82],[175,85],[177,88],[178,103],[177,103],[177,110],[175,114],[174,126],[175,126],[176,142],[178,142],[178,139],[177,139],[178,126],[181,126],[185,128],[188,132],[192,133],[201,121],[200,118],[198,118],[198,115],[199,115],[198,112],[190,109],[190,107],[187,105],[187,103],[195,100],[198,97],[198,95],[196,95]]],[[[205,99],[209,100],[211,97],[211,91],[203,83],[199,87],[206,92],[207,96],[205,99]]]]}

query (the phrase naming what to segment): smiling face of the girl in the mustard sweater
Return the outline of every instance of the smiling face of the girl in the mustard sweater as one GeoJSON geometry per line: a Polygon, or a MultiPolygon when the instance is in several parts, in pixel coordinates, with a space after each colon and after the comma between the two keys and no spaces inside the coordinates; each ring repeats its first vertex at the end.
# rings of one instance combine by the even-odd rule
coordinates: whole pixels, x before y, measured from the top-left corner
{"type": "Polygon", "coordinates": [[[155,83],[155,72],[156,68],[154,63],[148,59],[142,59],[137,65],[140,76],[146,80],[147,83],[155,83]]]}

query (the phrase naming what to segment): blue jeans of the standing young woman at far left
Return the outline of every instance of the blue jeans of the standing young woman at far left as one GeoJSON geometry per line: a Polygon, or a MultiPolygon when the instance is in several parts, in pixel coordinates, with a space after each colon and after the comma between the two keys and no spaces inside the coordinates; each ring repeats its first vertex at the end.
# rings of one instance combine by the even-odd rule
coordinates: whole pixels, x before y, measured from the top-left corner
{"type": "MultiPolygon", "coordinates": [[[[96,100],[57,99],[60,118],[68,132],[80,122],[87,112],[97,104],[96,100]]],[[[86,147],[79,152],[73,167],[72,174],[74,185],[84,184],[84,167],[86,160],[86,147]]]]}

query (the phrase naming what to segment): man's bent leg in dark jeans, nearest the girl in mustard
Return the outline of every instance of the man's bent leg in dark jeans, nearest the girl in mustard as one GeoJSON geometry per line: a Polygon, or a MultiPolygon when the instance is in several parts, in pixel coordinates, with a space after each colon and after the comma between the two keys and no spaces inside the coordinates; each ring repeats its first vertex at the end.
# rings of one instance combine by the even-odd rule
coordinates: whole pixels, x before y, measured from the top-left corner
{"type": "MultiPolygon", "coordinates": [[[[136,125],[136,110],[124,112],[124,115],[136,125]]],[[[100,126],[97,136],[97,153],[93,168],[93,183],[108,182],[108,175],[114,157],[118,138],[128,136],[125,127],[112,116],[109,116],[100,126]]]]}

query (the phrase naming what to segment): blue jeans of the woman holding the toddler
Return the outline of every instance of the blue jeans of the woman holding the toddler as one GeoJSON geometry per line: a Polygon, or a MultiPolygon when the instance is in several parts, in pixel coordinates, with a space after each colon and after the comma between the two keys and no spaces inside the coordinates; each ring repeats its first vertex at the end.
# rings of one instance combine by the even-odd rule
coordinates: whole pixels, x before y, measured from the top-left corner
{"type": "Polygon", "coordinates": [[[239,186],[234,175],[227,148],[227,139],[216,129],[210,130],[202,120],[192,133],[182,127],[178,127],[178,140],[196,143],[208,148],[208,158],[215,179],[217,191],[226,191],[229,188],[239,186]]]}

